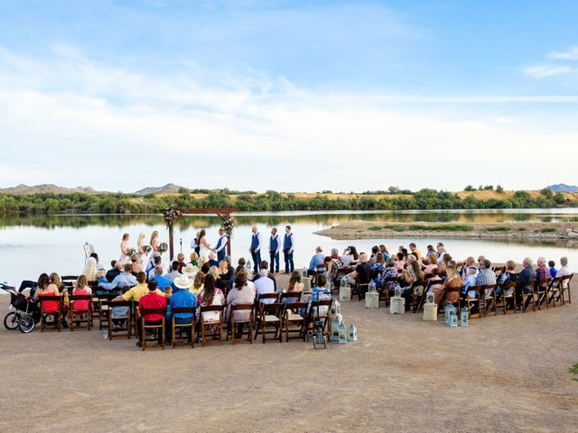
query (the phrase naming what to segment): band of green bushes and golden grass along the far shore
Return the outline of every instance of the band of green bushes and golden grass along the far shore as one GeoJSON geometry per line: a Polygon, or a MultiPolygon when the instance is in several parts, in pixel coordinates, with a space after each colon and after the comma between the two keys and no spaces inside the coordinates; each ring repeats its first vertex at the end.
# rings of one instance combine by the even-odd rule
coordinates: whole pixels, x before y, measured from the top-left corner
{"type": "Polygon", "coordinates": [[[183,209],[237,207],[239,212],[291,210],[435,210],[578,207],[578,193],[551,189],[505,191],[467,189],[461,192],[391,187],[362,193],[281,193],[229,189],[179,189],[174,193],[0,193],[0,214],[156,214],[176,203],[183,209]]]}

